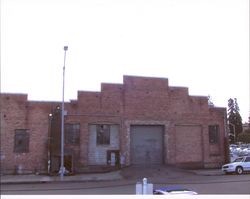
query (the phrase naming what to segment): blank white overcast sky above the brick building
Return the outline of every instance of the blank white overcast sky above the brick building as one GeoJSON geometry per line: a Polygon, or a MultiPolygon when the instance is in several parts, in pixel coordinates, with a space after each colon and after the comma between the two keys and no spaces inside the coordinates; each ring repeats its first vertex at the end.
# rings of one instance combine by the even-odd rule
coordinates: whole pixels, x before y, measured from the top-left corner
{"type": "Polygon", "coordinates": [[[248,0],[1,0],[1,92],[65,101],[123,75],[168,78],[250,114],[248,0]]]}

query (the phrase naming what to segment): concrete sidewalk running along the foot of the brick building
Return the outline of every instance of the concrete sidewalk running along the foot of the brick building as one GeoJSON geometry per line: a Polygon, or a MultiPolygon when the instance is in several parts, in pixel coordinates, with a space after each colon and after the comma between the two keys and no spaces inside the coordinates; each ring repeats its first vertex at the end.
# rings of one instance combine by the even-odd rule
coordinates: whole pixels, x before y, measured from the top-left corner
{"type": "MultiPolygon", "coordinates": [[[[140,179],[147,174],[147,177],[164,179],[178,179],[183,175],[201,175],[201,176],[219,176],[223,175],[220,169],[200,169],[200,170],[183,170],[176,168],[124,168],[120,171],[112,171],[106,173],[92,173],[92,174],[76,174],[72,176],[64,176],[63,182],[96,182],[96,181],[115,181],[115,180],[135,180],[140,179]]],[[[61,182],[60,176],[47,175],[1,175],[1,184],[18,184],[18,183],[46,183],[46,182],[61,182]]]]}

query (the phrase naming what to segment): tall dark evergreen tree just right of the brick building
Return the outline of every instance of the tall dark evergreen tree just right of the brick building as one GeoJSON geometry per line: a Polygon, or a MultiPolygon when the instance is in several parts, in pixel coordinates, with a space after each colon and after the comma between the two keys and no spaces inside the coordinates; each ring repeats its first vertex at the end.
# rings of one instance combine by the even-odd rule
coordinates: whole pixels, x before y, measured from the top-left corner
{"type": "Polygon", "coordinates": [[[230,140],[229,142],[235,143],[237,141],[237,137],[240,133],[242,133],[242,118],[240,116],[240,109],[237,102],[237,99],[230,98],[228,100],[228,126],[229,126],[229,134],[230,140]],[[232,136],[233,135],[233,136],[232,136]]]}

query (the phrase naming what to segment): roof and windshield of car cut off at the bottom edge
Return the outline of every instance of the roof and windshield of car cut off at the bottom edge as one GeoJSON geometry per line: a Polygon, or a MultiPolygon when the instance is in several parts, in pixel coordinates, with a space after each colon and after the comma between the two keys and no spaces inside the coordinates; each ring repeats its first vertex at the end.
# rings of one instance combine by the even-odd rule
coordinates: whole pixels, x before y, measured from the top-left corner
{"type": "Polygon", "coordinates": [[[180,186],[167,186],[162,187],[159,189],[153,190],[154,195],[178,195],[178,194],[184,194],[184,195],[196,195],[197,193],[195,191],[180,187],[180,186]]]}

